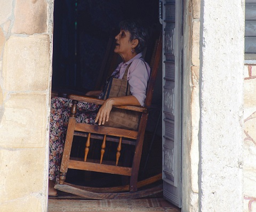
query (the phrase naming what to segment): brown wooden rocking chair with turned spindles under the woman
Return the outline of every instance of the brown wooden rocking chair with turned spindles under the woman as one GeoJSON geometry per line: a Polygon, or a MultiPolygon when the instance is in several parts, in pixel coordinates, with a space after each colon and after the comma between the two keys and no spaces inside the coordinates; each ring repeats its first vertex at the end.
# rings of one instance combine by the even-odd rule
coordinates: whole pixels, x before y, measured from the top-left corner
{"type": "Polygon", "coordinates": [[[89,96],[80,95],[69,95],[69,99],[73,99],[73,107],[71,108],[65,148],[63,151],[63,157],[61,161],[60,168],[60,184],[55,185],[55,189],[60,191],[73,193],[84,198],[90,199],[134,199],[141,198],[147,195],[156,194],[162,191],[162,184],[155,187],[138,191],[138,187],[151,184],[162,179],[162,174],[148,178],[145,181],[138,181],[139,165],[142,153],[143,138],[145,134],[148,109],[151,105],[151,100],[154,91],[154,84],[157,75],[157,70],[159,62],[161,61],[162,55],[162,35],[156,41],[155,50],[153,53],[152,60],[150,62],[151,74],[147,86],[147,96],[145,100],[145,107],[135,107],[130,105],[117,106],[116,108],[122,108],[124,110],[132,110],[141,112],[141,118],[139,122],[139,127],[137,131],[120,129],[114,127],[98,126],[98,125],[88,125],[84,123],[76,123],[76,105],[78,101],[102,104],[104,100],[95,99],[89,96]],[[74,159],[70,158],[71,146],[73,143],[74,135],[87,137],[85,144],[85,157],[84,159],[74,159]],[[101,145],[101,156],[100,161],[90,161],[87,159],[87,154],[90,148],[91,138],[96,138],[97,140],[103,140],[101,145]],[[108,163],[108,161],[103,160],[103,154],[105,152],[106,141],[117,142],[117,152],[116,161],[108,163]],[[135,146],[134,156],[132,160],[132,166],[119,166],[118,160],[120,157],[120,151],[122,144],[129,144],[135,146]],[[118,187],[85,187],[77,186],[73,184],[66,183],[66,173],[68,168],[79,169],[79,170],[90,170],[93,172],[118,174],[124,176],[130,176],[130,185],[118,186],[118,187]],[[126,191],[126,192],[125,192],[126,191]],[[128,192],[127,192],[128,191],[128,192]]]}

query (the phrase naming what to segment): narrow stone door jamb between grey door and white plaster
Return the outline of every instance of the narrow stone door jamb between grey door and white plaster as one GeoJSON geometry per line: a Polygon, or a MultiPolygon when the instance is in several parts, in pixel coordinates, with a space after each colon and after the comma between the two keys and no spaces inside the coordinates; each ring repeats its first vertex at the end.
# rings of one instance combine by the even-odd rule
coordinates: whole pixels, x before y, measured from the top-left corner
{"type": "Polygon", "coordinates": [[[182,211],[198,211],[200,0],[185,7],[183,74],[182,211]]]}

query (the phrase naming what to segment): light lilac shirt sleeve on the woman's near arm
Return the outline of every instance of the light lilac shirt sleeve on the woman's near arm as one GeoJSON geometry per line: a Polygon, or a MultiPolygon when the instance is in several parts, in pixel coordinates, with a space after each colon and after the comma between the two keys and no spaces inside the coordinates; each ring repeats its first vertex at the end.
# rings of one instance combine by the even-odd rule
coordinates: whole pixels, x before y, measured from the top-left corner
{"type": "Polygon", "coordinates": [[[129,80],[131,94],[136,97],[141,106],[145,103],[149,75],[150,68],[146,62],[141,59],[132,61],[127,80],[129,80]]]}

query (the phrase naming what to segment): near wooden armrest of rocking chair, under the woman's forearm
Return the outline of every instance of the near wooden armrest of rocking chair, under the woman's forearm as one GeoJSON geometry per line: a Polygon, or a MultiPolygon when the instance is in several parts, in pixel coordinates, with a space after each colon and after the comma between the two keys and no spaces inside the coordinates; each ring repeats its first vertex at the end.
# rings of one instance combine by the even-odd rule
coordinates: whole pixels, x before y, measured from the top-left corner
{"type": "MultiPolygon", "coordinates": [[[[70,94],[68,95],[68,99],[71,100],[77,100],[81,102],[88,102],[88,103],[94,103],[94,104],[103,104],[105,100],[100,100],[91,96],[82,96],[82,95],[75,95],[75,94],[70,94]]],[[[133,111],[138,111],[138,112],[147,112],[148,109],[145,107],[141,106],[133,106],[133,105],[115,105],[113,106],[114,108],[121,108],[125,110],[133,110],[133,111]]]]}

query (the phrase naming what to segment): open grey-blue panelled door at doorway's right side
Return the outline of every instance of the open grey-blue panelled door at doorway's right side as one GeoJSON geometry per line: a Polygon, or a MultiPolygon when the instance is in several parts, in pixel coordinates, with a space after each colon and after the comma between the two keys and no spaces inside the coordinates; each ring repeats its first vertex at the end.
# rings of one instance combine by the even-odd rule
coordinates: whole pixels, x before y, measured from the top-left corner
{"type": "MultiPolygon", "coordinates": [[[[161,11],[161,10],[160,10],[161,11]]],[[[164,198],[181,207],[183,5],[163,2],[163,181],[164,198]]]]}

